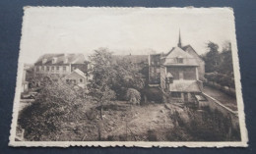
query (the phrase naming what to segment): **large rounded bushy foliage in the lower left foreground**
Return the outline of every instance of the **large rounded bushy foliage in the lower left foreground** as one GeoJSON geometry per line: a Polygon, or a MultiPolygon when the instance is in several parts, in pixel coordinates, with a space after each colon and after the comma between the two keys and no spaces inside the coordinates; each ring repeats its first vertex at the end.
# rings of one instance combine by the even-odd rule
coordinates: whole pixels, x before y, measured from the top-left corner
{"type": "Polygon", "coordinates": [[[85,102],[77,91],[56,81],[42,87],[32,105],[25,108],[18,123],[28,140],[58,140],[60,131],[84,118],[85,102]]]}

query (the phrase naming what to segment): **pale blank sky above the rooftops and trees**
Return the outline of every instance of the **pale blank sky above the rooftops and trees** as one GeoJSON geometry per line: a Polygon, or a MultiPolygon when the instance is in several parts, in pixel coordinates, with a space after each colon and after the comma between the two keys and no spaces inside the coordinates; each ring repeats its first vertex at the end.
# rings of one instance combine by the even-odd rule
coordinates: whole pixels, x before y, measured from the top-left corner
{"type": "Polygon", "coordinates": [[[223,46],[234,40],[233,13],[228,8],[79,8],[27,7],[20,61],[34,63],[45,53],[84,53],[108,48],[114,54],[168,52],[190,44],[198,54],[206,43],[223,46]]]}

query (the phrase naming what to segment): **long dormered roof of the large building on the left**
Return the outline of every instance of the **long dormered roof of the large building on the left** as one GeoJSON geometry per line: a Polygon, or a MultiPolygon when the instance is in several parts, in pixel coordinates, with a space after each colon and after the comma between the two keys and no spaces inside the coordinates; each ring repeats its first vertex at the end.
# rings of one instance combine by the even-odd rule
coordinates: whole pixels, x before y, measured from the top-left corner
{"type": "Polygon", "coordinates": [[[84,54],[44,54],[34,65],[42,65],[42,61],[46,60],[43,65],[62,65],[62,64],[84,64],[86,58],[84,54]],[[56,62],[52,64],[52,59],[55,58],[56,62]],[[67,61],[66,63],[64,63],[67,61]]]}

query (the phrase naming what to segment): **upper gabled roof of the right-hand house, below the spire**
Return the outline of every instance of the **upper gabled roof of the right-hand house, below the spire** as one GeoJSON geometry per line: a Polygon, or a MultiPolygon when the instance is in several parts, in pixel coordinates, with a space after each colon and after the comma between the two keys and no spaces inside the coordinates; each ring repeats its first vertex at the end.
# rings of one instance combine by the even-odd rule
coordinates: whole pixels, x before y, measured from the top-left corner
{"type": "Polygon", "coordinates": [[[162,64],[164,66],[199,66],[196,59],[182,50],[179,47],[175,47],[164,57],[162,64]],[[178,63],[177,58],[182,58],[183,62],[178,63]]]}

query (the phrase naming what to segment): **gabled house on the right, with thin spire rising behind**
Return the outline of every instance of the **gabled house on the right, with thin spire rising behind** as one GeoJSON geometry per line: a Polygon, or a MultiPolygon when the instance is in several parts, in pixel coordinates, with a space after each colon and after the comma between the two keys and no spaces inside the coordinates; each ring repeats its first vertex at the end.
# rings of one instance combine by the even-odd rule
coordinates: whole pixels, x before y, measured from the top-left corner
{"type": "Polygon", "coordinates": [[[182,46],[181,37],[168,53],[149,55],[149,85],[160,86],[172,101],[192,102],[202,92],[204,61],[191,45],[182,46]]]}

